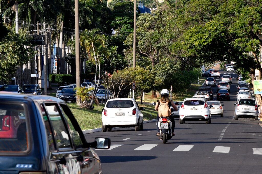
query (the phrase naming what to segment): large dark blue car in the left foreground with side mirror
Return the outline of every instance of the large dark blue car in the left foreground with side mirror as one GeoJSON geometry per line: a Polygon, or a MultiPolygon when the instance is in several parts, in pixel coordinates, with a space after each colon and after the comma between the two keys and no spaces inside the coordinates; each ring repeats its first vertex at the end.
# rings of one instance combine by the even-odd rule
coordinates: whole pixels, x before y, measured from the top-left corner
{"type": "Polygon", "coordinates": [[[92,148],[108,149],[110,139],[88,143],[64,101],[1,91],[0,103],[0,173],[102,173],[92,148]]]}

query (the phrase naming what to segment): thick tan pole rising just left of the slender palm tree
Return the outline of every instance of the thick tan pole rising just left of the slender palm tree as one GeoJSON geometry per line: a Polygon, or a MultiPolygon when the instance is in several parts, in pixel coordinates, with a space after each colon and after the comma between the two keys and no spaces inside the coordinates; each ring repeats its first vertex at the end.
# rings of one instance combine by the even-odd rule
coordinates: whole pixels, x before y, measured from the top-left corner
{"type": "MultiPolygon", "coordinates": [[[[80,87],[80,53],[79,53],[78,0],[75,0],[75,80],[76,80],[77,88],[79,88],[80,87]]],[[[79,95],[77,95],[77,105],[79,104],[80,104],[80,97],[79,95]]]]}

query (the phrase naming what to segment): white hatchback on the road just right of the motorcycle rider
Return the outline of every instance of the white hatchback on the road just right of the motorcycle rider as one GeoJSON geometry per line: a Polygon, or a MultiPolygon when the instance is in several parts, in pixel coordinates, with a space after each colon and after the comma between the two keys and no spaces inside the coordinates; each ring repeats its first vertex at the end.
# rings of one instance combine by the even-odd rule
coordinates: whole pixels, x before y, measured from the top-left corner
{"type": "Polygon", "coordinates": [[[211,107],[204,98],[185,98],[179,110],[179,124],[185,121],[206,121],[210,124],[211,107]]]}

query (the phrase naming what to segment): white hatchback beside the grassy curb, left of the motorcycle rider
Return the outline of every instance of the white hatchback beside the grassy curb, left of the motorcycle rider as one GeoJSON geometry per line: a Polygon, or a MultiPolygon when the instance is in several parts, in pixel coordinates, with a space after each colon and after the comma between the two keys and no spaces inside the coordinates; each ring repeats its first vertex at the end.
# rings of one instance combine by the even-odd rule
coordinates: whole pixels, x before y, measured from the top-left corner
{"type": "Polygon", "coordinates": [[[114,98],[106,102],[102,109],[102,131],[110,131],[112,127],[135,127],[135,131],[143,130],[143,117],[133,98],[114,98]]]}

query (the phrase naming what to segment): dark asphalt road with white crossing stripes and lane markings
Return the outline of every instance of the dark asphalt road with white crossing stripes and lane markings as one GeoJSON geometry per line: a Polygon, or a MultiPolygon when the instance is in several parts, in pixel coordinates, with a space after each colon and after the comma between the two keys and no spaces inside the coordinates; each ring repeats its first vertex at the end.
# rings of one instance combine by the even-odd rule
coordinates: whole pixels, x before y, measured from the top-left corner
{"type": "Polygon", "coordinates": [[[231,75],[231,100],[221,102],[224,117],[212,116],[211,124],[180,125],[176,119],[176,136],[167,144],[155,136],[155,123],[144,124],[144,131],[119,128],[87,134],[88,141],[111,138],[110,149],[96,150],[103,173],[261,173],[262,127],[253,119],[234,120],[237,75],[231,75]]]}

